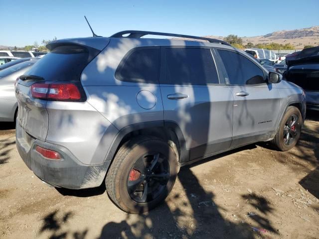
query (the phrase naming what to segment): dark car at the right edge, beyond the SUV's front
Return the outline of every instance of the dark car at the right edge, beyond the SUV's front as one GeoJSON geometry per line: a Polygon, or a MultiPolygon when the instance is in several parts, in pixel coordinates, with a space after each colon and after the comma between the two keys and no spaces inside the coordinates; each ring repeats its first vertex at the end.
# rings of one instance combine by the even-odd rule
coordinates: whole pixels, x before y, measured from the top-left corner
{"type": "Polygon", "coordinates": [[[304,49],[290,60],[284,79],[304,88],[307,110],[319,111],[319,46],[304,49]]]}

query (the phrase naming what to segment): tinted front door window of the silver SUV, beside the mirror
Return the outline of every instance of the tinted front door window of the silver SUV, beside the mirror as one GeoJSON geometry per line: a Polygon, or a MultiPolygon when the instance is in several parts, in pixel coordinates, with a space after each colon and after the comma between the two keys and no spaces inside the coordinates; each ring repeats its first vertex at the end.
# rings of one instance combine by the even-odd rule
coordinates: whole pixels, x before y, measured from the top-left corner
{"type": "Polygon", "coordinates": [[[265,83],[263,71],[246,57],[231,51],[218,50],[233,85],[265,83]]]}

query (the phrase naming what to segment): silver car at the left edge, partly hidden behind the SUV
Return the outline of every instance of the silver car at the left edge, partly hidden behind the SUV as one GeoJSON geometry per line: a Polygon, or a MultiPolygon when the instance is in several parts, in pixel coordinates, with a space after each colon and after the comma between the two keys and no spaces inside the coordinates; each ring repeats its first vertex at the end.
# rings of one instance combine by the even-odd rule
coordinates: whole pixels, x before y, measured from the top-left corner
{"type": "MultiPolygon", "coordinates": [[[[5,63],[3,66],[13,62],[5,63]]],[[[14,93],[14,82],[17,77],[31,68],[35,62],[36,60],[27,60],[0,71],[0,122],[15,121],[18,108],[14,93]]]]}

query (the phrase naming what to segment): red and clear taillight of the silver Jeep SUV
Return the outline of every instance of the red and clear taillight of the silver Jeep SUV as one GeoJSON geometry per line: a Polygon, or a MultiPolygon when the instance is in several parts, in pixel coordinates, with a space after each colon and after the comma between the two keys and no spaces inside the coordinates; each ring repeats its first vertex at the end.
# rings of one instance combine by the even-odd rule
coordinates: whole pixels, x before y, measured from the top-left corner
{"type": "Polygon", "coordinates": [[[33,98],[43,100],[73,101],[81,99],[78,87],[70,83],[35,83],[31,86],[31,95],[33,98]]]}

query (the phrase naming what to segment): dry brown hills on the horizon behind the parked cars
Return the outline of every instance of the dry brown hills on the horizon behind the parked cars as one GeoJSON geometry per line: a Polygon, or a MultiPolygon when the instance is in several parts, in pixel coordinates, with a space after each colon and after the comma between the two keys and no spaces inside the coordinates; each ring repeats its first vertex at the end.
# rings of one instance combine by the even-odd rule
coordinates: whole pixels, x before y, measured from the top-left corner
{"type": "MultiPolygon", "coordinates": [[[[216,38],[222,40],[223,36],[206,36],[210,38],[216,38]]],[[[319,26],[313,26],[309,28],[302,28],[296,30],[281,30],[274,31],[272,33],[263,36],[244,36],[243,44],[246,45],[248,42],[253,44],[258,43],[279,43],[287,44],[290,43],[296,47],[296,49],[303,49],[305,45],[319,45],[319,26]]]]}

